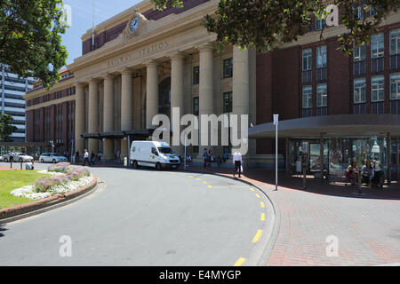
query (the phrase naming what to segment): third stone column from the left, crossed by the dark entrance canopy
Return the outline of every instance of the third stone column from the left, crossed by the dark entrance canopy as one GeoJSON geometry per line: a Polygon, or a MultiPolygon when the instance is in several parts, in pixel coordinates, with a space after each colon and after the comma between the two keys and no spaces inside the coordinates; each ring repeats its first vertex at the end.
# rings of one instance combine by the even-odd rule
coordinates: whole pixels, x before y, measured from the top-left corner
{"type": "MultiPolygon", "coordinates": [[[[114,131],[114,76],[107,75],[104,78],[104,110],[103,110],[103,132],[114,131]]],[[[107,139],[103,142],[103,157],[105,160],[114,158],[113,140],[107,139]]]]}

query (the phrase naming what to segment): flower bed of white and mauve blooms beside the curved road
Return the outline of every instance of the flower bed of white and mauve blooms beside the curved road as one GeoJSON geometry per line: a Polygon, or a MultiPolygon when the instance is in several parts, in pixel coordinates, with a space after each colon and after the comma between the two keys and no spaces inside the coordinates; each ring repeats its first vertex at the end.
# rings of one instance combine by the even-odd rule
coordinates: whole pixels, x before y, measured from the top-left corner
{"type": "Polygon", "coordinates": [[[34,185],[28,185],[12,191],[12,195],[26,197],[31,200],[41,200],[58,193],[68,193],[88,185],[93,177],[89,170],[83,167],[71,166],[61,162],[50,166],[49,172],[60,173],[52,177],[36,180],[34,185]]]}

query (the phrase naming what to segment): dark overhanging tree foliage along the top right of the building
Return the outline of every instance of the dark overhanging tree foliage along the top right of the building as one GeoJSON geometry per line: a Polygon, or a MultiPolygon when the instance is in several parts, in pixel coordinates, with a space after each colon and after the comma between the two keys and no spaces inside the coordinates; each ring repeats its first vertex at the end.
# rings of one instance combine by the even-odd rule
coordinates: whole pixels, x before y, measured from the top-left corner
{"type": "MultiPolygon", "coordinates": [[[[151,0],[155,9],[182,7],[182,0],[151,0]]],[[[217,43],[258,51],[272,51],[278,43],[291,43],[308,32],[312,16],[326,17],[327,4],[340,11],[339,23],[348,30],[339,36],[341,50],[351,54],[353,46],[369,40],[390,12],[397,12],[400,0],[220,0],[215,15],[204,17],[204,27],[217,34],[217,43]],[[364,15],[372,9],[374,16],[357,19],[355,12],[364,15]]],[[[321,32],[323,37],[324,29],[321,32]]]]}

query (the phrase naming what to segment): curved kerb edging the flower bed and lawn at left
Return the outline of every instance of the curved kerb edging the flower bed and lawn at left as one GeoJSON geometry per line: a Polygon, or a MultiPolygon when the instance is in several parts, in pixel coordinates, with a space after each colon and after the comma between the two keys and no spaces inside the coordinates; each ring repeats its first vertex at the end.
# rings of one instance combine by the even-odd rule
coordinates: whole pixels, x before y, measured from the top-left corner
{"type": "Polygon", "coordinates": [[[98,188],[98,178],[93,176],[93,180],[89,185],[76,189],[73,192],[66,193],[63,198],[59,198],[60,194],[53,195],[43,201],[22,204],[9,209],[0,210],[0,225],[12,223],[23,218],[36,216],[44,212],[67,206],[73,202],[79,201],[84,197],[92,194],[98,188]]]}

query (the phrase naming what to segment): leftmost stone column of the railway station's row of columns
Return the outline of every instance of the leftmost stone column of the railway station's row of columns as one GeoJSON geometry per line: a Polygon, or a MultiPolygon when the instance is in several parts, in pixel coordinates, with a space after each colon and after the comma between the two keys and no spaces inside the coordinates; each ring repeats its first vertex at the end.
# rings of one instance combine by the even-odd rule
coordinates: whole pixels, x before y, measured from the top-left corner
{"type": "Polygon", "coordinates": [[[79,151],[80,155],[84,155],[84,134],[85,125],[85,98],[84,98],[84,84],[76,84],[76,100],[75,100],[75,151],[79,151]]]}

